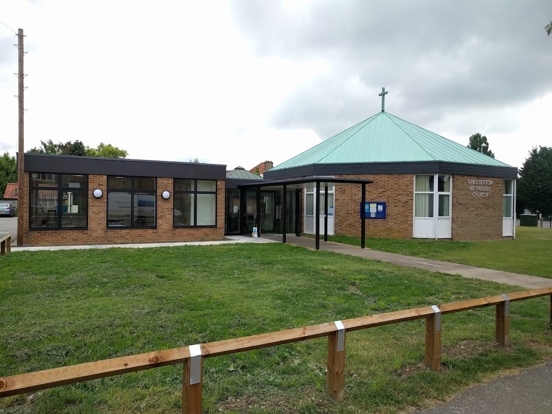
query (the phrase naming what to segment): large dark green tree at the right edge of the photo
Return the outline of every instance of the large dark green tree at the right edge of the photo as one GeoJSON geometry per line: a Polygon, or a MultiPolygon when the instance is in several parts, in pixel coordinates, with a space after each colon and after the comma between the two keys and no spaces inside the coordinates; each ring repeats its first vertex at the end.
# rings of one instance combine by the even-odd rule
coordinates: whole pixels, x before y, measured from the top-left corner
{"type": "Polygon", "coordinates": [[[519,205],[533,213],[552,215],[552,147],[534,147],[519,169],[519,205]]]}

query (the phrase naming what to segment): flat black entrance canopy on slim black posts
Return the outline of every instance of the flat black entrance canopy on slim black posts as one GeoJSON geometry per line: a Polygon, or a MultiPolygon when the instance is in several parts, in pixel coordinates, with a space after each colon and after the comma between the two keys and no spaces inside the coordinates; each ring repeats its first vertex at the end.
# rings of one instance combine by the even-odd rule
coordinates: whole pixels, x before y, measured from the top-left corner
{"type": "MultiPolygon", "coordinates": [[[[361,185],[362,186],[362,200],[359,200],[359,205],[364,205],[366,202],[366,184],[371,184],[373,181],[369,179],[360,179],[360,178],[332,178],[332,177],[304,177],[304,178],[288,178],[282,180],[259,180],[258,182],[250,182],[247,184],[239,184],[237,187],[240,189],[256,189],[257,190],[257,217],[261,217],[261,189],[262,190],[283,190],[283,229],[282,232],[282,242],[285,243],[285,228],[286,228],[286,194],[289,190],[299,190],[303,188],[316,188],[316,194],[320,194],[320,190],[324,189],[324,241],[328,241],[328,214],[327,214],[327,205],[328,205],[328,187],[336,187],[338,185],[361,185]],[[360,204],[362,203],[362,204],[360,204]]],[[[295,205],[295,214],[300,216],[300,205],[295,205]]],[[[360,216],[360,211],[359,211],[360,216]]],[[[320,249],[320,220],[316,221],[316,250],[320,249]]],[[[365,219],[364,217],[360,218],[360,246],[365,247],[365,219]]],[[[296,234],[300,235],[300,229],[296,234]]]]}

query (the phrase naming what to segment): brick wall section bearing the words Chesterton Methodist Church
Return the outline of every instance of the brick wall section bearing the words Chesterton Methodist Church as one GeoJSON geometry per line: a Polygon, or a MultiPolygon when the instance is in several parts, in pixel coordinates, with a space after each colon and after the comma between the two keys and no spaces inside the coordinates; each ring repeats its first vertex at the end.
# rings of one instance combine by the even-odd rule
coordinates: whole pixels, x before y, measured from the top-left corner
{"type": "MultiPolygon", "coordinates": [[[[479,184],[477,184],[479,185],[479,184]]],[[[453,240],[502,239],[502,192],[504,180],[493,177],[453,176],[452,238],[453,240]],[[488,197],[474,197],[469,179],[492,181],[488,197]]],[[[481,193],[475,191],[475,193],[481,193]]],[[[511,237],[506,237],[511,238],[511,237]]]]}

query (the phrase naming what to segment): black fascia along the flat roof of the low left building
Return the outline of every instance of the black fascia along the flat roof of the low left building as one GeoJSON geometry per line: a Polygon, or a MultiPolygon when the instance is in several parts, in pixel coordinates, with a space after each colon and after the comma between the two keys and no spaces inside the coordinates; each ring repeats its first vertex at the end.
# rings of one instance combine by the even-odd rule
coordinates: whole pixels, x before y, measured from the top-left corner
{"type": "Polygon", "coordinates": [[[26,172],[225,180],[226,166],[176,161],[127,160],[25,153],[26,172]]]}

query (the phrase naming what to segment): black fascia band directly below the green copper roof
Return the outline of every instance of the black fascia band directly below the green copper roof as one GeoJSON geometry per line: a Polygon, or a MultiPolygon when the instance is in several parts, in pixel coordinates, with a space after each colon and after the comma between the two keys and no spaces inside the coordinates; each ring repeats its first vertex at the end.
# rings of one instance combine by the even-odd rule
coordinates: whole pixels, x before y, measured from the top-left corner
{"type": "Polygon", "coordinates": [[[284,179],[307,176],[355,176],[365,174],[453,174],[517,178],[516,167],[487,166],[445,161],[409,162],[357,162],[309,164],[284,169],[271,169],[264,173],[267,179],[284,179]]]}

